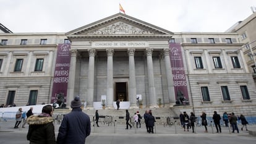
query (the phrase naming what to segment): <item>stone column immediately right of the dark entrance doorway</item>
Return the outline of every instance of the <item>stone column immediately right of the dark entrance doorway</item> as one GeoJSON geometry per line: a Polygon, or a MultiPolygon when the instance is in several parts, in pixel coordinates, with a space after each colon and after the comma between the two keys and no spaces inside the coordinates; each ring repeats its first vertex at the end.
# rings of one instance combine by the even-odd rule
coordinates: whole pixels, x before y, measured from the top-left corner
{"type": "Polygon", "coordinates": [[[130,106],[136,106],[136,77],[135,77],[135,62],[134,62],[135,49],[129,48],[127,53],[129,54],[129,101],[130,106]]]}

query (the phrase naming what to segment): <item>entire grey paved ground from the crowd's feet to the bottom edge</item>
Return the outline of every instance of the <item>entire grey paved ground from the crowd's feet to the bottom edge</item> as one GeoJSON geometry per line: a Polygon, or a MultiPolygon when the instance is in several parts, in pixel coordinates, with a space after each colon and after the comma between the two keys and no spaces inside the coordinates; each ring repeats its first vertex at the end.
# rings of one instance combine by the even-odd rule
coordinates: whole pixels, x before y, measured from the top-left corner
{"type": "MultiPolygon", "coordinates": [[[[29,143],[27,141],[26,135],[28,131],[28,125],[25,125],[23,129],[13,129],[15,124],[14,119],[9,119],[7,121],[0,122],[0,144],[23,144],[29,143]]],[[[55,125],[56,137],[58,135],[59,124],[55,125]]],[[[225,144],[255,144],[256,137],[249,135],[246,130],[241,130],[241,125],[239,125],[239,133],[229,132],[228,127],[221,127],[222,133],[216,133],[215,127],[211,129],[208,125],[208,133],[205,133],[204,127],[196,127],[196,133],[192,133],[192,129],[189,132],[184,131],[180,125],[168,125],[156,124],[155,133],[147,133],[145,129],[145,124],[142,124],[141,128],[126,130],[125,124],[103,124],[99,123],[100,127],[93,127],[91,135],[87,137],[87,144],[141,144],[141,143],[225,143],[225,144]]],[[[248,125],[249,130],[256,130],[256,125],[248,125]]]]}

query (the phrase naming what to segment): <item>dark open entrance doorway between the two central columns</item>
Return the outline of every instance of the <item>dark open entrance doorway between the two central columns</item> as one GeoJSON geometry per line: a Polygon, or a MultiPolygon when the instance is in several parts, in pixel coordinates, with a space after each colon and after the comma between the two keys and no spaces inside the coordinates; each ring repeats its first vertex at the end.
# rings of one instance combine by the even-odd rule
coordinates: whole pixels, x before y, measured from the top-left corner
{"type": "Polygon", "coordinates": [[[129,101],[127,96],[127,82],[116,82],[115,90],[116,100],[120,99],[120,101],[129,101]]]}

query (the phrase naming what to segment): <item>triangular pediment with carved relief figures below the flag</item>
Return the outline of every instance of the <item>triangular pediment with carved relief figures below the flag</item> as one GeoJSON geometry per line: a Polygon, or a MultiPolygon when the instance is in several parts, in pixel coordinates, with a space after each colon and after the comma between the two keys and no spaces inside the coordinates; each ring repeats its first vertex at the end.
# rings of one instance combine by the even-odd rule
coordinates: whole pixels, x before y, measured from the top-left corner
{"type": "Polygon", "coordinates": [[[116,14],[66,33],[67,36],[172,36],[173,33],[129,15],[116,14]]]}

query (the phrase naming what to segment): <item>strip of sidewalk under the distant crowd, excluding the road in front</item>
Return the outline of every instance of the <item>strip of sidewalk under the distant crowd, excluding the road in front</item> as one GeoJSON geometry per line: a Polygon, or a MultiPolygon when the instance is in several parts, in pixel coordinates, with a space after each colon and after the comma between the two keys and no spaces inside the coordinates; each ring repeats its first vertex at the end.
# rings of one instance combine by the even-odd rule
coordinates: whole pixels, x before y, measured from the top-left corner
{"type": "MultiPolygon", "coordinates": [[[[0,132],[17,132],[17,133],[27,133],[28,131],[28,125],[25,125],[25,128],[22,129],[14,129],[14,124],[15,120],[14,119],[9,119],[7,121],[1,121],[0,122],[0,132]]],[[[55,132],[58,133],[59,130],[59,125],[60,124],[54,124],[55,125],[55,132]]],[[[113,134],[113,133],[119,133],[122,135],[128,134],[128,135],[244,135],[244,136],[250,136],[249,131],[246,130],[241,130],[242,125],[238,125],[239,127],[239,133],[235,131],[235,133],[229,132],[228,127],[221,127],[222,133],[216,133],[215,127],[211,129],[211,126],[208,125],[208,133],[205,133],[205,128],[204,127],[196,127],[195,128],[195,133],[192,133],[192,129],[189,129],[189,132],[184,131],[184,129],[181,127],[181,125],[177,125],[175,127],[174,125],[171,126],[165,126],[163,124],[156,124],[154,128],[155,133],[147,133],[145,129],[145,124],[141,125],[141,128],[135,129],[135,127],[132,127],[132,129],[126,130],[126,124],[101,124],[99,123],[100,127],[93,127],[93,123],[91,123],[91,133],[93,135],[95,134],[113,134]]],[[[19,125],[20,127],[20,125],[19,125]]],[[[244,128],[245,129],[245,128],[244,128]]],[[[256,131],[256,125],[247,125],[248,130],[254,130],[256,131]]],[[[232,131],[232,130],[231,130],[232,131]]]]}

